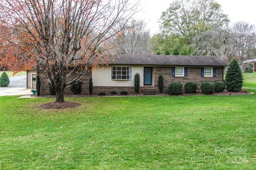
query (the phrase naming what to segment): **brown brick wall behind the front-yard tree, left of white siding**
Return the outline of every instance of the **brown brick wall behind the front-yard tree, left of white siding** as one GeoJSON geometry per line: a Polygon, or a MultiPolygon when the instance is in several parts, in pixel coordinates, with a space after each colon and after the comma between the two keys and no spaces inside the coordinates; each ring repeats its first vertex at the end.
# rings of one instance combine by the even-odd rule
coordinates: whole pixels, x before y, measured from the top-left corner
{"type": "MultiPolygon", "coordinates": [[[[40,81],[41,81],[41,95],[49,95],[49,86],[48,86],[49,80],[47,80],[45,78],[45,75],[42,72],[39,73],[39,76],[40,76],[40,81]]],[[[77,73],[73,72],[73,74],[71,74],[70,77],[67,77],[67,82],[75,79],[76,77],[77,77],[77,73]]],[[[92,73],[87,72],[87,73],[85,73],[83,79],[80,80],[80,82],[83,83],[82,84],[82,94],[89,94],[89,80],[91,77],[92,77],[92,73]]],[[[64,93],[66,95],[72,94],[70,85],[68,85],[65,88],[64,93]]]]}

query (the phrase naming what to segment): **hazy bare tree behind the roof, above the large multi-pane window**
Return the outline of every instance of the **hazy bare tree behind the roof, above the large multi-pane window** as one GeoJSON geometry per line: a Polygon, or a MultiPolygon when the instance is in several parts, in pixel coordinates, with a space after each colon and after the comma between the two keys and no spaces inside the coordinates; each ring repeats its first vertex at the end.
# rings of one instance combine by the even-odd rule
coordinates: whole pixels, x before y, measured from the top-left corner
{"type": "Polygon", "coordinates": [[[139,55],[147,53],[147,43],[150,37],[149,30],[143,21],[132,20],[117,25],[117,30],[125,27],[112,38],[115,54],[139,55]]]}

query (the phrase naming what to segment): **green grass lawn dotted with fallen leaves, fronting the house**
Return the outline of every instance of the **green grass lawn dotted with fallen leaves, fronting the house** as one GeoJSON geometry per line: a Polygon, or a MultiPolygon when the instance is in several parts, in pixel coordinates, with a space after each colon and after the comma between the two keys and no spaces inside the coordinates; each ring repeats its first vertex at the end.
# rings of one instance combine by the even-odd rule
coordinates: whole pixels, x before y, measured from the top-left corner
{"type": "Polygon", "coordinates": [[[0,98],[0,169],[255,169],[253,95],[0,98]]]}

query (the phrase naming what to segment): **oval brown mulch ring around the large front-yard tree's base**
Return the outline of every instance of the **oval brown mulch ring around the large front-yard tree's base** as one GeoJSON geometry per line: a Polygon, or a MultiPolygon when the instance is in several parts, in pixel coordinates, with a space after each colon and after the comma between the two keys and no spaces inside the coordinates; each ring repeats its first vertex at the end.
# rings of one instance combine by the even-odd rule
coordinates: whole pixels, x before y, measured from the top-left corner
{"type": "Polygon", "coordinates": [[[64,108],[74,108],[81,106],[81,104],[76,103],[74,101],[64,101],[57,103],[55,101],[50,102],[50,103],[45,103],[43,105],[39,105],[38,107],[41,109],[64,109],[64,108]]]}

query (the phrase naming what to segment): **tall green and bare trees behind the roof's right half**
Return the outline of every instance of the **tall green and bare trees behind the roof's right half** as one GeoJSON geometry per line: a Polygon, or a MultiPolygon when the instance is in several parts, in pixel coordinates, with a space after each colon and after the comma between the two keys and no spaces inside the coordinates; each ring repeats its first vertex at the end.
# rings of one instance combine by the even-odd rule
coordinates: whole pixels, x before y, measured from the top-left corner
{"type": "Polygon", "coordinates": [[[148,47],[157,55],[214,55],[227,62],[235,57],[240,63],[255,58],[255,26],[229,23],[214,0],[176,0],[162,13],[161,33],[148,47]]]}

